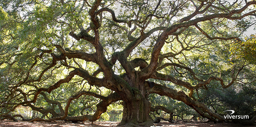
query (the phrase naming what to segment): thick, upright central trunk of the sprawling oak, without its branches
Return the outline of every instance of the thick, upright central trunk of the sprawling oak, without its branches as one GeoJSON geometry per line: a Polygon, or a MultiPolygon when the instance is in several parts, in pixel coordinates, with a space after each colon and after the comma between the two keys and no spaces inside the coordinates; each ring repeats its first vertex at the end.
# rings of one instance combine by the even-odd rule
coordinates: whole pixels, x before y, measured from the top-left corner
{"type": "MultiPolygon", "coordinates": [[[[136,73],[136,72],[135,72],[136,73]]],[[[135,74],[136,75],[136,74],[135,74]]],[[[151,103],[148,101],[147,84],[139,81],[139,78],[125,78],[129,83],[130,92],[121,92],[119,95],[123,100],[123,118],[119,125],[127,126],[151,126],[153,119],[149,112],[151,103]]]]}

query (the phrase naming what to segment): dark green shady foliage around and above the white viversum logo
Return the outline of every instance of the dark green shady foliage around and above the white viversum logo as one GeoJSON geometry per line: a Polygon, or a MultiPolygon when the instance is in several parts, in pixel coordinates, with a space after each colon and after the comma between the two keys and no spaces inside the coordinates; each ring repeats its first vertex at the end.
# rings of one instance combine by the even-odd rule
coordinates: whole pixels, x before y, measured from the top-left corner
{"type": "Polygon", "coordinates": [[[255,85],[236,85],[228,89],[209,88],[209,91],[200,91],[200,100],[206,103],[213,111],[223,112],[234,110],[236,115],[253,117],[255,110],[255,85]]]}

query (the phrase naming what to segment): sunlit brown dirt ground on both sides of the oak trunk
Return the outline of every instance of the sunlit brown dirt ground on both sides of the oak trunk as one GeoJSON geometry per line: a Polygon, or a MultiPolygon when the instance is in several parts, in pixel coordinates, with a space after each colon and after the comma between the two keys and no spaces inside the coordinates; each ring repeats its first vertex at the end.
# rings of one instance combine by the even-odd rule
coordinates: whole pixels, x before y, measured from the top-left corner
{"type": "MultiPolygon", "coordinates": [[[[0,120],[0,127],[114,127],[119,122],[80,122],[80,123],[72,123],[72,122],[64,122],[64,121],[56,121],[56,122],[34,122],[29,123],[27,121],[19,121],[13,122],[10,120],[0,120]]],[[[155,124],[152,127],[256,127],[256,126],[242,126],[241,124],[235,123],[203,123],[203,122],[177,122],[177,123],[169,123],[169,122],[160,122],[155,124]]]]}

